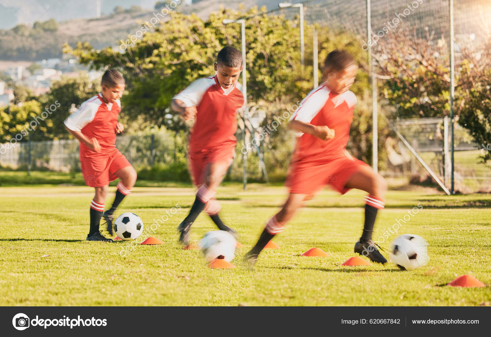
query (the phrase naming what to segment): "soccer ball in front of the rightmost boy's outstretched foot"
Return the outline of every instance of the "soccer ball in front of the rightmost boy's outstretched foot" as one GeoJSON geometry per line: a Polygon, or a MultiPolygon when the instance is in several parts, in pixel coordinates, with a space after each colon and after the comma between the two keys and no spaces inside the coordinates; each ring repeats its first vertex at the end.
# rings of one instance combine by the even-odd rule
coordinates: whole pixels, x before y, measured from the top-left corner
{"type": "Polygon", "coordinates": [[[403,234],[392,242],[390,259],[403,270],[414,270],[428,263],[428,242],[419,235],[403,234]]]}

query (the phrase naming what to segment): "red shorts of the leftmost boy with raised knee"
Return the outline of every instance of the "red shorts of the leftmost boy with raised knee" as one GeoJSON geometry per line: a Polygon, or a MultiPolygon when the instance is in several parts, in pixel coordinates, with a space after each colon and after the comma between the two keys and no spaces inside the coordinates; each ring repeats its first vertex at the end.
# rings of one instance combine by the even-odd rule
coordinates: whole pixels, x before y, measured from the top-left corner
{"type": "Polygon", "coordinates": [[[108,186],[109,182],[117,178],[114,172],[131,166],[118,149],[115,149],[109,157],[81,160],[80,163],[85,185],[90,187],[108,186]]]}

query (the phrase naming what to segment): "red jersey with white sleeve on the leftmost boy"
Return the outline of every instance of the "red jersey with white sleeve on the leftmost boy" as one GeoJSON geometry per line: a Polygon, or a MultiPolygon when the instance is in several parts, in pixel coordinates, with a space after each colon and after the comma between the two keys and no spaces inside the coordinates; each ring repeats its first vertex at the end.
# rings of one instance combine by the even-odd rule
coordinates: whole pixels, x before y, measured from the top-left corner
{"type": "Polygon", "coordinates": [[[65,120],[70,130],[81,131],[87,138],[95,138],[101,145],[101,152],[92,151],[87,145],[80,144],[80,159],[109,157],[116,149],[116,124],[121,111],[119,99],[116,104],[106,104],[102,94],[87,99],[80,108],[65,120]]]}

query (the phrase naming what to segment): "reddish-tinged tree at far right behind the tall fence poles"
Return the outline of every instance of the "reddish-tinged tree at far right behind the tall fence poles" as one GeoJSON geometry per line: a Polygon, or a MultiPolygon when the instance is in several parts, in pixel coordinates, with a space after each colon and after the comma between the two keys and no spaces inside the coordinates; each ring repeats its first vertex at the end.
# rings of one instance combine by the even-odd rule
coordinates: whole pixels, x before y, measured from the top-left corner
{"type": "MultiPolygon", "coordinates": [[[[396,109],[393,117],[444,117],[450,112],[450,77],[455,77],[454,112],[459,124],[477,144],[491,144],[491,34],[482,46],[460,41],[455,73],[451,74],[448,46],[443,39],[425,38],[400,29],[379,42],[376,54],[382,98],[396,109]]],[[[490,151],[483,156],[491,159],[490,151]]]]}

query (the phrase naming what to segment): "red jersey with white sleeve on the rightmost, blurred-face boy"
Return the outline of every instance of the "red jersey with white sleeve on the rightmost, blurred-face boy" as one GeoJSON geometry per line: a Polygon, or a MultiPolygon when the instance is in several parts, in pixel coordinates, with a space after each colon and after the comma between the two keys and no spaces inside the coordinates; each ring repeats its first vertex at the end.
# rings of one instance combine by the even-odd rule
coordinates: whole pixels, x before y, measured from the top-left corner
{"type": "Polygon", "coordinates": [[[301,102],[290,120],[312,125],[327,125],[334,129],[334,138],[321,140],[309,134],[298,134],[293,162],[328,162],[346,155],[356,96],[351,91],[341,95],[331,93],[325,84],[312,90],[301,102]]]}

